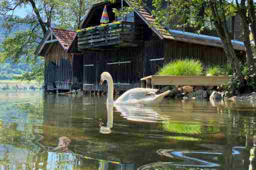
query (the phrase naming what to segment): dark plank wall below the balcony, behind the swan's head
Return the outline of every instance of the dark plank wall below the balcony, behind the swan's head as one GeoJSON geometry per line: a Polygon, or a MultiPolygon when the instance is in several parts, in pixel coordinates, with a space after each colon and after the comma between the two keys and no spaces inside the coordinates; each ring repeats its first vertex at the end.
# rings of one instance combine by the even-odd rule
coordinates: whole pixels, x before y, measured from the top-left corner
{"type": "Polygon", "coordinates": [[[109,72],[118,90],[128,90],[140,86],[143,76],[144,48],[120,48],[98,52],[84,52],[84,90],[106,91],[106,84],[99,85],[100,74],[109,72]]]}

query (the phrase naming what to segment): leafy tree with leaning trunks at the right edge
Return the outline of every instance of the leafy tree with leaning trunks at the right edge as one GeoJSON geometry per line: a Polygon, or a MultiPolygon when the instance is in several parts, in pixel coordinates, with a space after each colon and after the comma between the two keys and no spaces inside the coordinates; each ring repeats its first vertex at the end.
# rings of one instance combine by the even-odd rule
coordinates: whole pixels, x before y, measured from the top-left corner
{"type": "Polygon", "coordinates": [[[252,47],[249,43],[249,27],[253,41],[256,34],[255,4],[252,0],[153,0],[153,14],[159,24],[170,27],[171,21],[176,20],[176,27],[194,27],[198,31],[207,28],[205,21],[213,23],[214,28],[223,42],[223,50],[228,61],[232,64],[238,82],[242,84],[239,60],[231,43],[231,32],[228,30],[229,17],[239,14],[244,28],[244,45],[249,66],[254,66],[252,47]],[[165,6],[165,7],[163,7],[165,6]]]}

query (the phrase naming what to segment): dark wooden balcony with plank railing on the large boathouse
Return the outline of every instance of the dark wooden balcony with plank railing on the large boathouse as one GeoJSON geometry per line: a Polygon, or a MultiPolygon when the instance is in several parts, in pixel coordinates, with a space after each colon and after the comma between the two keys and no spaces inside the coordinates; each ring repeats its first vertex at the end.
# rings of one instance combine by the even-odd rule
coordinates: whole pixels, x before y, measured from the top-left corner
{"type": "Polygon", "coordinates": [[[94,26],[77,33],[78,49],[138,46],[143,43],[143,26],[131,22],[94,26]]]}

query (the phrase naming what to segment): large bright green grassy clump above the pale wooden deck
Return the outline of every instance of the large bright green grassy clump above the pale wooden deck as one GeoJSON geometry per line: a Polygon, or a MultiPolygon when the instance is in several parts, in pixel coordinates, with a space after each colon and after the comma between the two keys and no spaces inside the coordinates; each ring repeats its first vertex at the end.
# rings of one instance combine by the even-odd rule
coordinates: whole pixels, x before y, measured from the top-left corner
{"type": "Polygon", "coordinates": [[[157,75],[169,76],[199,76],[202,74],[202,64],[199,60],[185,59],[176,60],[166,64],[157,75]]]}

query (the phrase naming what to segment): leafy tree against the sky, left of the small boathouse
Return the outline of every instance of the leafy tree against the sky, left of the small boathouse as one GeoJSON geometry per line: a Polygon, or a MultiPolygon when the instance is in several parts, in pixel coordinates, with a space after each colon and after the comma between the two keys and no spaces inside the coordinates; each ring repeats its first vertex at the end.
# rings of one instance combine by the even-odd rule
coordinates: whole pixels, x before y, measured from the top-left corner
{"type": "MultiPolygon", "coordinates": [[[[50,27],[76,30],[91,0],[1,0],[0,16],[4,17],[2,27],[8,30],[0,44],[0,62],[11,59],[12,62],[25,62],[33,65],[32,73],[23,75],[23,79],[32,79],[43,75],[42,58],[34,55],[35,48],[50,27]],[[31,8],[25,17],[15,15],[20,8],[31,8]],[[28,29],[12,32],[15,27],[26,25],[28,29]],[[34,67],[37,67],[35,69],[34,67]],[[38,73],[41,71],[41,73],[38,73]]],[[[39,78],[40,79],[40,78],[39,78]]]]}

